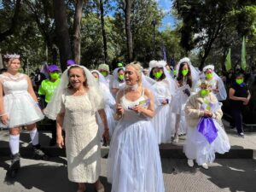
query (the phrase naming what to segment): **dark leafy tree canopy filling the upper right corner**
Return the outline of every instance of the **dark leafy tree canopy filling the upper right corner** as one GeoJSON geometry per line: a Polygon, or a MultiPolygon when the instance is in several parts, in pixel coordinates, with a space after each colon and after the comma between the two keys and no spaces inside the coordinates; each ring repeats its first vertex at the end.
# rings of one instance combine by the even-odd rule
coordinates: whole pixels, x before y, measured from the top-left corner
{"type": "MultiPolygon", "coordinates": [[[[174,4],[178,18],[183,20],[180,44],[187,52],[197,49],[201,67],[205,61],[213,59],[221,62],[224,68],[224,55],[229,47],[235,55],[236,47],[240,47],[241,54],[241,37],[244,35],[255,42],[254,1],[176,0],[174,4]]],[[[232,63],[236,61],[235,58],[232,63]]]]}

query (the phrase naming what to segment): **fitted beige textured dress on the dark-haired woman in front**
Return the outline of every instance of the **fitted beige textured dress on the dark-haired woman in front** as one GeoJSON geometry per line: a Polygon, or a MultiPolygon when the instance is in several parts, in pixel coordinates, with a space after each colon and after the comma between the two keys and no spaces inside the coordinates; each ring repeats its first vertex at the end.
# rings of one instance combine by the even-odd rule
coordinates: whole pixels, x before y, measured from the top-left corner
{"type": "Polygon", "coordinates": [[[72,96],[66,91],[61,105],[64,110],[68,179],[95,183],[101,172],[101,146],[96,113],[88,94],[72,96]]]}

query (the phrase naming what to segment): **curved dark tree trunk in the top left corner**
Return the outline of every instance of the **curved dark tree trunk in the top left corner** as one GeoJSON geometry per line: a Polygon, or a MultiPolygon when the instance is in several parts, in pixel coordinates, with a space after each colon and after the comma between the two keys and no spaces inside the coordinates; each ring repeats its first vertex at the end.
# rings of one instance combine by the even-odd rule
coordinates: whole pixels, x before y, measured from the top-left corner
{"type": "Polygon", "coordinates": [[[15,14],[11,20],[11,25],[8,30],[0,33],[0,42],[4,41],[8,36],[12,35],[15,32],[15,28],[17,26],[17,22],[19,20],[20,13],[20,2],[21,0],[17,0],[15,3],[15,14]]]}

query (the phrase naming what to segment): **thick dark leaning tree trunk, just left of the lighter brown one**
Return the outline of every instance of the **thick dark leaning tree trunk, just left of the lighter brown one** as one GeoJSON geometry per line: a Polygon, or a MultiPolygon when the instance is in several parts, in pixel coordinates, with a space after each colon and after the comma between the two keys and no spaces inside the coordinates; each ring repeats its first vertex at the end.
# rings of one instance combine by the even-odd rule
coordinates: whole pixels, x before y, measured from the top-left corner
{"type": "Polygon", "coordinates": [[[68,33],[66,5],[64,0],[55,0],[54,15],[56,25],[56,36],[60,50],[61,70],[67,68],[67,60],[71,58],[71,45],[68,33]]]}

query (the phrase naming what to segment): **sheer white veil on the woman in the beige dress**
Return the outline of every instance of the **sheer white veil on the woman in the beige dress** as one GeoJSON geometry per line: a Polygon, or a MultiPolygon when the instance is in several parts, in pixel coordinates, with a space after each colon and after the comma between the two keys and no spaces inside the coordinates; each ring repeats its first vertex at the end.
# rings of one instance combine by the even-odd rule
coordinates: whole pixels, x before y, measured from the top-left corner
{"type": "Polygon", "coordinates": [[[84,67],[79,65],[73,65],[67,67],[67,69],[61,75],[61,83],[55,89],[55,93],[52,96],[50,102],[48,103],[47,107],[44,109],[45,115],[49,119],[56,119],[58,113],[61,112],[61,104],[64,102],[64,95],[68,89],[69,84],[69,77],[68,77],[68,70],[73,67],[80,67],[84,70],[85,79],[88,84],[88,96],[92,105],[92,113],[95,113],[97,110],[104,108],[103,102],[103,94],[102,91],[99,89],[99,85],[97,84],[94,76],[90,73],[90,71],[84,67]]]}

